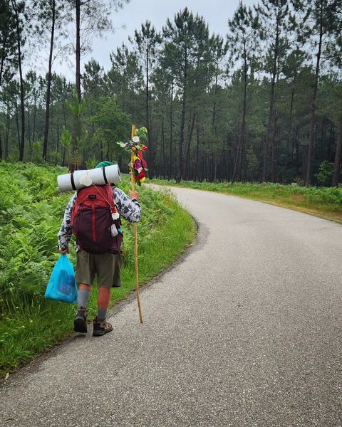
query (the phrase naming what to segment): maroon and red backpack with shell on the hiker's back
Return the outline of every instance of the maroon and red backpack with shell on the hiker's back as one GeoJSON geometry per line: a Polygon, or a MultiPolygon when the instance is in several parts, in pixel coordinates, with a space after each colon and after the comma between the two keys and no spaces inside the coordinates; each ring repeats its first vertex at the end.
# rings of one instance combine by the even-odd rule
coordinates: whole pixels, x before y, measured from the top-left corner
{"type": "Polygon", "coordinates": [[[120,253],[123,234],[110,184],[77,191],[71,227],[78,246],[88,253],[120,253]],[[116,230],[115,230],[116,228],[116,230]],[[112,230],[118,231],[113,237],[112,230]]]}

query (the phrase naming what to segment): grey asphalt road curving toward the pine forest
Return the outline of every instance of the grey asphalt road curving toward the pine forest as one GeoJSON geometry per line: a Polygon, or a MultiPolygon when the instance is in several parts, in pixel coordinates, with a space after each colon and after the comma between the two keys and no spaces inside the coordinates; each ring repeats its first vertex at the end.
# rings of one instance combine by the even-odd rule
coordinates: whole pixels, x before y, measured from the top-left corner
{"type": "Polygon", "coordinates": [[[10,376],[1,427],[342,426],[342,226],[174,191],[199,234],[142,292],[145,323],[132,300],[10,376]]]}

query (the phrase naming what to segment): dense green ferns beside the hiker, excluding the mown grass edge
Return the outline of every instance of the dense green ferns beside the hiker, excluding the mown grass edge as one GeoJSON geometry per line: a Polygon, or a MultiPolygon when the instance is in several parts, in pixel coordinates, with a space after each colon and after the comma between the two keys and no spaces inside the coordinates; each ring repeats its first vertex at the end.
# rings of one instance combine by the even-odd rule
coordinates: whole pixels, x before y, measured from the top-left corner
{"type": "MultiPolygon", "coordinates": [[[[0,162],[0,309],[16,312],[16,307],[35,303],[50,304],[43,298],[48,278],[58,259],[57,233],[71,193],[59,194],[61,167],[0,162]],[[39,302],[40,301],[40,302],[39,302]]],[[[125,177],[120,189],[126,193],[130,181],[125,177]]],[[[157,236],[155,228],[172,216],[165,195],[142,187],[142,219],[139,252],[144,253],[157,236]]],[[[123,223],[125,266],[134,270],[133,228],[123,223]]],[[[162,236],[161,236],[162,238],[162,236]]]]}

